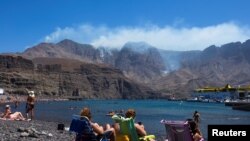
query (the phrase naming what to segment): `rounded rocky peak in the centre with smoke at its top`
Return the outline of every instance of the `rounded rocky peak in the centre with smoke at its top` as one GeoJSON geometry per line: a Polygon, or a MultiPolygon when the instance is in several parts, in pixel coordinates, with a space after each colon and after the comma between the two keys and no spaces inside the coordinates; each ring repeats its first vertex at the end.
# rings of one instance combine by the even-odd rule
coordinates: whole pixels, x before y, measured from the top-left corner
{"type": "Polygon", "coordinates": [[[127,43],[119,52],[115,67],[134,80],[149,82],[159,78],[165,64],[159,51],[145,43],[127,43]]]}

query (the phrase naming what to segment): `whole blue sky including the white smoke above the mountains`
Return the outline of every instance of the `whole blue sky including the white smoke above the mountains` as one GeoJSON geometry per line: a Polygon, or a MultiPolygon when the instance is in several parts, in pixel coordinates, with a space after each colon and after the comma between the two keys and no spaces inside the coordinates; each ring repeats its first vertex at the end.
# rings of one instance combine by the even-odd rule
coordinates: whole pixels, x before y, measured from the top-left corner
{"type": "Polygon", "coordinates": [[[250,39],[249,0],[0,0],[0,53],[71,39],[203,50],[250,39]]]}

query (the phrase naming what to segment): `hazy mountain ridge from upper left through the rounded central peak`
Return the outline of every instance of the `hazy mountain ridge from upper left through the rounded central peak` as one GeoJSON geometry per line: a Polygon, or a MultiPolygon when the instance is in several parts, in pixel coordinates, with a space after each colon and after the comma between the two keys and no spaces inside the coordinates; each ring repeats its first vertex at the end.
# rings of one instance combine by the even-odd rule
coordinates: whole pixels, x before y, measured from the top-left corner
{"type": "Polygon", "coordinates": [[[77,59],[89,63],[104,63],[118,68],[124,74],[138,82],[148,82],[159,77],[165,69],[164,62],[158,50],[150,45],[127,43],[121,50],[109,48],[94,48],[91,45],[79,44],[65,39],[57,44],[41,43],[27,49],[23,57],[34,59],[37,57],[77,59]],[[143,52],[137,52],[135,47],[144,47],[143,52]]]}

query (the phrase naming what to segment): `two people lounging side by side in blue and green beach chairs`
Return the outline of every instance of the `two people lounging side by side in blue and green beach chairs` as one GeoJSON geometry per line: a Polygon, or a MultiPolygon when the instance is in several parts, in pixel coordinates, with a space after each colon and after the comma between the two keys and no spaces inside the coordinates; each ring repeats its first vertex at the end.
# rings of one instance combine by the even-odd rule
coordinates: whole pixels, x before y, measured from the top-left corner
{"type": "MultiPolygon", "coordinates": [[[[81,110],[80,112],[80,116],[84,116],[87,117],[90,125],[94,131],[94,133],[96,134],[97,139],[99,140],[101,138],[101,136],[103,134],[108,134],[110,141],[116,141],[117,136],[119,136],[120,133],[120,126],[119,123],[114,123],[113,125],[110,124],[106,124],[105,126],[101,126],[98,123],[95,123],[92,121],[92,116],[91,116],[91,112],[90,109],[85,107],[81,110]]],[[[134,109],[128,109],[125,113],[125,117],[126,118],[135,118],[136,116],[136,112],[134,109]]],[[[139,123],[134,123],[134,127],[136,129],[136,132],[138,134],[138,137],[142,137],[142,136],[146,136],[147,132],[145,130],[144,125],[139,122],[139,123]]],[[[81,141],[84,135],[77,135],[76,136],[76,141],[81,141]]],[[[129,141],[129,137],[124,137],[125,141],[129,141]],[[127,139],[126,139],[127,138],[127,139]]],[[[153,141],[153,139],[151,139],[150,141],[153,141]]]]}

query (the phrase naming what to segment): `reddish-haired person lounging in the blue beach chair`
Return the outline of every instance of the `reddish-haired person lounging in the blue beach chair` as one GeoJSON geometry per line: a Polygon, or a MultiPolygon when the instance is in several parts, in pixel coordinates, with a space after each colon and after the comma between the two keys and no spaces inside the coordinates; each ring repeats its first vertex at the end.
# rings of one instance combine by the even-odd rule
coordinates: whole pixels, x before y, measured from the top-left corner
{"type": "Polygon", "coordinates": [[[115,141],[115,130],[114,128],[111,128],[111,126],[109,124],[106,124],[106,127],[104,128],[103,126],[99,125],[98,123],[94,123],[92,121],[92,116],[91,116],[91,112],[90,109],[85,107],[81,110],[80,113],[81,116],[85,116],[88,118],[88,120],[90,121],[91,127],[93,128],[93,131],[95,132],[96,136],[99,138],[101,137],[105,132],[109,132],[110,133],[110,141],[115,141]]]}

